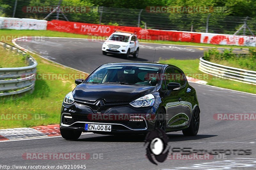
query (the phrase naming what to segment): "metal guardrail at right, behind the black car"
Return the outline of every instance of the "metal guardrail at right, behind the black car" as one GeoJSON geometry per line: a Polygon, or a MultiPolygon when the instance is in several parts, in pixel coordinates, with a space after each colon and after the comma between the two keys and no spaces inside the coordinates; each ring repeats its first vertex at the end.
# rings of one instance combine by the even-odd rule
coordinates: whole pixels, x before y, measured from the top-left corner
{"type": "Polygon", "coordinates": [[[199,70],[220,78],[256,85],[256,71],[223,66],[200,58],[199,70]]]}

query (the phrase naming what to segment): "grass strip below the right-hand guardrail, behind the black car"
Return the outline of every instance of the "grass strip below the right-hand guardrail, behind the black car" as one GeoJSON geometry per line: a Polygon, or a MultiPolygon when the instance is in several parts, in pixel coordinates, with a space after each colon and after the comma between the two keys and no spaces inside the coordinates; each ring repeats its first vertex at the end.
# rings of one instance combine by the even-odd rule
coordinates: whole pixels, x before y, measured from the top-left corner
{"type": "Polygon", "coordinates": [[[252,84],[246,84],[242,82],[222,79],[219,77],[215,77],[209,74],[205,74],[198,69],[199,59],[196,60],[160,60],[159,63],[172,64],[177,67],[180,67],[186,75],[189,77],[193,77],[199,80],[207,81],[208,85],[232,89],[237,91],[243,91],[248,93],[256,94],[256,86],[252,84]]]}

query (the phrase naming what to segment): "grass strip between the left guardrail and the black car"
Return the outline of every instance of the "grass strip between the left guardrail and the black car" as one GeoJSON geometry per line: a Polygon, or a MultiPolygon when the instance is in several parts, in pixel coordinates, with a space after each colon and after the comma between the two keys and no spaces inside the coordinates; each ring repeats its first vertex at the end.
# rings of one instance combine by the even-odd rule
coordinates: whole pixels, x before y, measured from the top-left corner
{"type": "Polygon", "coordinates": [[[35,90],[20,96],[1,97],[0,129],[58,124],[62,101],[75,88],[75,78],[71,74],[87,76],[37,55],[32,56],[38,62],[35,90]],[[70,78],[65,78],[64,74],[70,74],[70,78]],[[53,80],[54,75],[57,80],[53,80]]]}

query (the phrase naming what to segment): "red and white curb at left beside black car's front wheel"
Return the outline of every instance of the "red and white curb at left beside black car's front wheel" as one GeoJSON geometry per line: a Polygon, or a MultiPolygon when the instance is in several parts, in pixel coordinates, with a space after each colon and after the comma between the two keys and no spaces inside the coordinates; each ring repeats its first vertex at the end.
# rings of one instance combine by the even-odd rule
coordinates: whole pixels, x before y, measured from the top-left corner
{"type": "Polygon", "coordinates": [[[59,124],[36,126],[32,128],[13,128],[0,130],[0,141],[52,136],[60,136],[59,124]]]}

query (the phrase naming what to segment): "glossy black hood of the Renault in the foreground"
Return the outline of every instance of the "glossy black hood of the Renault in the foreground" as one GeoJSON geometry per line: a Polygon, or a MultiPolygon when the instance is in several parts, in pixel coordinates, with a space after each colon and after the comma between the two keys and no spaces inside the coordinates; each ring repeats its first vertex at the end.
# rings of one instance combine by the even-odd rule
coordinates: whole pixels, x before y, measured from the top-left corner
{"type": "Polygon", "coordinates": [[[80,100],[106,102],[133,101],[156,91],[156,86],[136,86],[123,84],[82,83],[73,90],[73,97],[80,100]]]}

